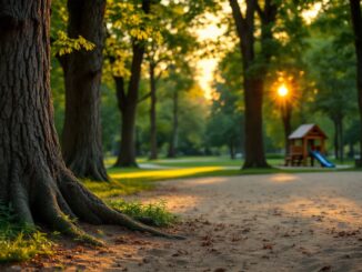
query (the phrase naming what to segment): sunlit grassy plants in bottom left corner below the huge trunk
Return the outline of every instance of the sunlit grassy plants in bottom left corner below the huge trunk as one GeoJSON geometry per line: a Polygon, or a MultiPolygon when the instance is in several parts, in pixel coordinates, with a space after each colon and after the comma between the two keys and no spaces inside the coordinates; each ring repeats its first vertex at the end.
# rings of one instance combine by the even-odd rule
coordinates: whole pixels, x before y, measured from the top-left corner
{"type": "Polygon", "coordinates": [[[51,254],[52,242],[33,226],[19,224],[11,206],[0,205],[0,263],[51,254]]]}

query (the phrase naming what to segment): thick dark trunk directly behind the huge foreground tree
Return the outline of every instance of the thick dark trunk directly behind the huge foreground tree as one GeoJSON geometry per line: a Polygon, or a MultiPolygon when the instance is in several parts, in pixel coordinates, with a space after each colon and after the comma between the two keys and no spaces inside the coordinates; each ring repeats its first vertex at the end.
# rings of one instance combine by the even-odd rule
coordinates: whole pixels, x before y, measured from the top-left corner
{"type": "Polygon", "coordinates": [[[104,9],[105,0],[68,1],[69,37],[82,36],[93,42],[95,49],[61,57],[66,78],[63,158],[77,177],[97,181],[108,180],[100,122],[104,9]]]}

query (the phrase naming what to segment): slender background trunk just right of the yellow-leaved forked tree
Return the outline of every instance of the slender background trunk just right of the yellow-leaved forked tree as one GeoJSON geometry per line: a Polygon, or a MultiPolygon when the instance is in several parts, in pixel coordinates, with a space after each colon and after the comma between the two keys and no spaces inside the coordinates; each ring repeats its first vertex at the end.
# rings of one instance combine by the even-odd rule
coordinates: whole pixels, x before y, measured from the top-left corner
{"type": "Polygon", "coordinates": [[[153,63],[150,63],[150,89],[151,89],[151,108],[150,108],[150,160],[158,158],[158,142],[157,142],[157,82],[154,77],[153,63]]]}

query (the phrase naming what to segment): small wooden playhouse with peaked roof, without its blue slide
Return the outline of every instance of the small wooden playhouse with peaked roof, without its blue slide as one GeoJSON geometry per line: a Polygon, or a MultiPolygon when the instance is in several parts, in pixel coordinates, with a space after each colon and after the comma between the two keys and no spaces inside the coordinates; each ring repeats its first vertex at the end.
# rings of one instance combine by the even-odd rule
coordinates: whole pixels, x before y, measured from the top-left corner
{"type": "Polygon", "coordinates": [[[328,137],[316,124],[302,124],[288,138],[289,150],[285,155],[285,167],[288,165],[314,165],[314,158],[311,151],[319,151],[325,154],[325,140],[328,137]]]}

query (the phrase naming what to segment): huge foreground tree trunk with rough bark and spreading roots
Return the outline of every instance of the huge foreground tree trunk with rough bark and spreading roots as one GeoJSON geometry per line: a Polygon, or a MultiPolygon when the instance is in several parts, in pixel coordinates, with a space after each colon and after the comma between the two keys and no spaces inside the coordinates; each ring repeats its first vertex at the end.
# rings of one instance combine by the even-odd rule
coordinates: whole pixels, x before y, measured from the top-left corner
{"type": "Polygon", "coordinates": [[[0,0],[0,202],[23,223],[99,243],[72,219],[167,235],[108,208],[66,168],[50,91],[50,0],[0,0]]]}

